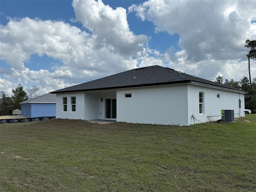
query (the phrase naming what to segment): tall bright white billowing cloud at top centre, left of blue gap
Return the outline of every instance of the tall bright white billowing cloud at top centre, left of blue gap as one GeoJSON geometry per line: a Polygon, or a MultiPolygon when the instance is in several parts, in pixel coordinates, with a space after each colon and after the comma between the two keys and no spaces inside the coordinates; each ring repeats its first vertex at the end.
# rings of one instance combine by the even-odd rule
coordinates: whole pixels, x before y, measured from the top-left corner
{"type": "Polygon", "coordinates": [[[141,52],[142,44],[148,41],[145,35],[134,35],[127,22],[126,10],[115,10],[104,5],[101,0],[74,0],[72,3],[76,21],[92,32],[95,48],[106,49],[110,53],[128,56],[141,52]]]}

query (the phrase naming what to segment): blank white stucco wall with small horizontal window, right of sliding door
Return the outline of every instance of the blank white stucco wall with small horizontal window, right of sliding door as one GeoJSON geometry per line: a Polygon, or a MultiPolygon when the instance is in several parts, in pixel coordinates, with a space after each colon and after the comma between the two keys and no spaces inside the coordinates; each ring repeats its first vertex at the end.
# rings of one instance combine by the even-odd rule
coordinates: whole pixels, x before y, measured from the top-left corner
{"type": "Polygon", "coordinates": [[[117,90],[116,98],[118,122],[188,125],[187,85],[117,90]]]}

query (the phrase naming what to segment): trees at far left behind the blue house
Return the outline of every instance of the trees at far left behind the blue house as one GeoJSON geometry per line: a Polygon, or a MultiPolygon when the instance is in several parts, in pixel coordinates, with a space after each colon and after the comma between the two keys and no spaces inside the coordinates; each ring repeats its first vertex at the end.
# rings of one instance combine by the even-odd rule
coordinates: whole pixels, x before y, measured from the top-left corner
{"type": "Polygon", "coordinates": [[[28,92],[21,84],[12,90],[12,96],[8,96],[4,91],[0,91],[0,115],[10,115],[15,109],[21,110],[20,102],[39,96],[37,86],[32,86],[28,92]]]}

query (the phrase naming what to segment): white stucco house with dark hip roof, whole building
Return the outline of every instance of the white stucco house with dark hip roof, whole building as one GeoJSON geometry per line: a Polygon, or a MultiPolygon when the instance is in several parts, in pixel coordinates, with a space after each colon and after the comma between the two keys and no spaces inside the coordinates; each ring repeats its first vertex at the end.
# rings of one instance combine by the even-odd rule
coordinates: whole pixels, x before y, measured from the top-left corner
{"type": "Polygon", "coordinates": [[[188,126],[244,116],[244,92],[161,66],[121,72],[56,90],[56,118],[188,126]],[[239,104],[240,103],[240,104],[239,104]]]}

